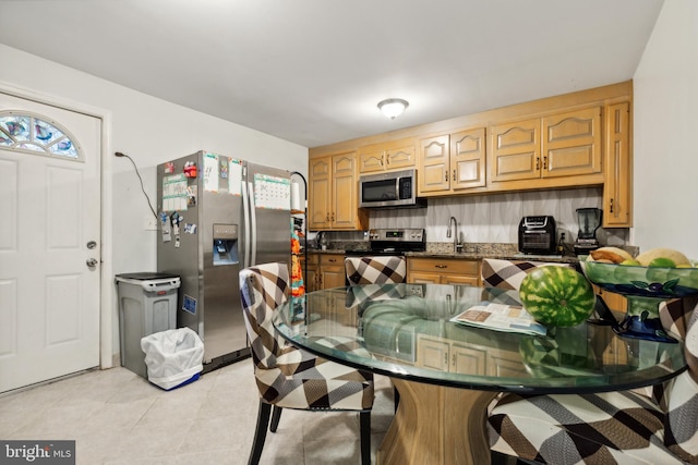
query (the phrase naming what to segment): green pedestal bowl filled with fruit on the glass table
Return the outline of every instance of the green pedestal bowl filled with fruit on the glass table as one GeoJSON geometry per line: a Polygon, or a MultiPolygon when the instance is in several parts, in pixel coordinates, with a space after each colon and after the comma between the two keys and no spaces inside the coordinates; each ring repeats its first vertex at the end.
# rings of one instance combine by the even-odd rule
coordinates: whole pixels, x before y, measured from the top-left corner
{"type": "Polygon", "coordinates": [[[698,264],[671,248],[652,248],[633,257],[617,247],[601,247],[580,256],[587,279],[607,292],[627,297],[626,318],[614,328],[628,338],[674,341],[659,320],[659,305],[698,294],[698,264]]]}

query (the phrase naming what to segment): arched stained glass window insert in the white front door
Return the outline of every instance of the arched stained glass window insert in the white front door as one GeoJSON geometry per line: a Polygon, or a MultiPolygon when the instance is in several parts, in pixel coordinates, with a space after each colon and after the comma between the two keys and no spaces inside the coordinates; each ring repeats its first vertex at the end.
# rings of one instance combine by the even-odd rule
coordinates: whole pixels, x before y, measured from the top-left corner
{"type": "Polygon", "coordinates": [[[38,115],[0,112],[0,147],[82,160],[74,137],[38,115]]]}

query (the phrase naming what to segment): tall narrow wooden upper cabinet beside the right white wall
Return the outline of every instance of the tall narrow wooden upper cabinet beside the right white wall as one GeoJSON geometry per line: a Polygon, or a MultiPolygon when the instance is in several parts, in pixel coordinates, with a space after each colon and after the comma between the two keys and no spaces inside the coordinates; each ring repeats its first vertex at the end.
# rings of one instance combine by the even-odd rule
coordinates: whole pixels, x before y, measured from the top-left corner
{"type": "Polygon", "coordinates": [[[605,108],[605,184],[603,186],[603,228],[630,228],[631,173],[630,103],[605,108]]]}

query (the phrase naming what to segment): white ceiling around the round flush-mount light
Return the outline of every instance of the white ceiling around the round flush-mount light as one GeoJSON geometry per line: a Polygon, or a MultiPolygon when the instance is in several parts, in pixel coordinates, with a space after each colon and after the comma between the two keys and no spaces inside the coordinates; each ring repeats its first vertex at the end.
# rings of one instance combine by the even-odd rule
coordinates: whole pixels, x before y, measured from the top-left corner
{"type": "Polygon", "coordinates": [[[315,147],[629,79],[662,2],[0,0],[0,42],[315,147]]]}

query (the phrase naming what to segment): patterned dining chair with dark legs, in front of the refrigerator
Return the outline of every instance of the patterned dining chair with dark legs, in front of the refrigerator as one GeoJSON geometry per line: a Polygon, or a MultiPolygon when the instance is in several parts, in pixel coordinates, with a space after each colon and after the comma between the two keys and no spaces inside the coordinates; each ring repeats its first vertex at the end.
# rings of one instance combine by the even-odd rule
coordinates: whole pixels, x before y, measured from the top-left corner
{"type": "Polygon", "coordinates": [[[266,429],[276,432],[282,408],[359,413],[361,463],[371,464],[373,375],[312,355],[287,343],[272,325],[274,309],[286,302],[286,264],[265,264],[240,272],[240,295],[252,347],[260,409],[249,463],[260,463],[266,429]],[[269,414],[272,423],[269,426],[269,414]]]}

